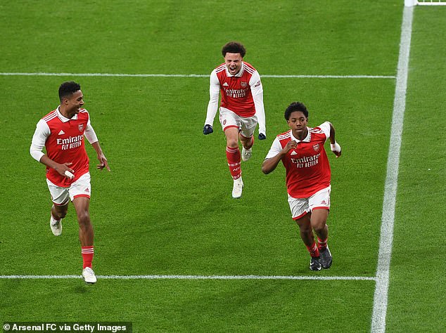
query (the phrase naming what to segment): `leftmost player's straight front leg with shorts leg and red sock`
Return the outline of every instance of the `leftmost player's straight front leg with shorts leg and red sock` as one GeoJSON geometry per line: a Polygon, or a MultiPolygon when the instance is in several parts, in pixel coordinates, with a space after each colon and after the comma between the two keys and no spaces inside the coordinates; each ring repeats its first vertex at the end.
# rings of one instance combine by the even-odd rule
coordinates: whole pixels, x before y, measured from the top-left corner
{"type": "Polygon", "coordinates": [[[70,198],[75,207],[77,223],[79,223],[79,241],[82,254],[82,277],[87,283],[96,282],[96,275],[91,269],[94,257],[94,230],[90,220],[90,174],[82,175],[70,187],[70,198]]]}

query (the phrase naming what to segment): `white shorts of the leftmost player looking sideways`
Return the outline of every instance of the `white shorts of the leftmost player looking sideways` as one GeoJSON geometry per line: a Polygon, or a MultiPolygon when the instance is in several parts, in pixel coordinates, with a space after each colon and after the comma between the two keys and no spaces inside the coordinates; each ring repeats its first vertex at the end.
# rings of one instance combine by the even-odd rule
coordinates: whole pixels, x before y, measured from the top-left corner
{"type": "Polygon", "coordinates": [[[65,206],[69,200],[74,200],[76,197],[90,197],[91,195],[91,177],[90,173],[83,174],[72,183],[68,188],[63,188],[51,183],[46,179],[48,189],[51,195],[51,200],[56,206],[65,206]]]}

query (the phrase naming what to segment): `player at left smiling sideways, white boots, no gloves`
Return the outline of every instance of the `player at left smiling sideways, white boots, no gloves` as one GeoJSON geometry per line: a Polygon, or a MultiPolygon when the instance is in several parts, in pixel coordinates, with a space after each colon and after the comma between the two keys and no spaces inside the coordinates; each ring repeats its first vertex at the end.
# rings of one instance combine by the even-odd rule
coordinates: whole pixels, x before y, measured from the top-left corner
{"type": "Polygon", "coordinates": [[[96,150],[99,160],[97,169],[110,171],[98,138],[90,124],[90,116],[84,105],[80,85],[64,82],[59,87],[60,105],[37,123],[32,137],[30,154],[46,165],[48,184],[53,207],[50,227],[54,235],[62,233],[62,218],[68,211],[70,200],[77,214],[79,240],[82,247],[82,278],[95,283],[91,269],[94,256],[94,233],[91,226],[89,203],[91,194],[89,157],[85,150],[84,136],[96,150]],[[42,152],[45,148],[46,153],[42,152]]]}

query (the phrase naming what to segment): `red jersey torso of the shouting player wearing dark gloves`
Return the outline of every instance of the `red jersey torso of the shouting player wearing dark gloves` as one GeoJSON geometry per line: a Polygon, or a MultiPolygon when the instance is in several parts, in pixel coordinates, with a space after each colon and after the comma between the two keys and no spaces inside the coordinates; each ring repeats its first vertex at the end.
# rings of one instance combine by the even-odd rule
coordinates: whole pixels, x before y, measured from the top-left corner
{"type": "MultiPolygon", "coordinates": [[[[225,107],[241,117],[255,115],[253,94],[251,93],[250,79],[256,72],[255,68],[243,61],[241,74],[228,76],[226,65],[222,63],[215,72],[217,74],[222,100],[220,106],[225,107]]],[[[255,82],[260,84],[260,81],[255,82]]]]}

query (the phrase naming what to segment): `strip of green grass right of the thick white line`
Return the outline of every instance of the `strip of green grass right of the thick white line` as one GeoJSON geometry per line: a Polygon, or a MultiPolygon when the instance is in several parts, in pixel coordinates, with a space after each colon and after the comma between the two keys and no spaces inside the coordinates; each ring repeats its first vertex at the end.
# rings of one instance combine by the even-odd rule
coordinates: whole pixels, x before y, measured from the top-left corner
{"type": "Polygon", "coordinates": [[[446,331],[446,71],[440,65],[446,46],[438,43],[446,37],[446,8],[432,9],[414,12],[390,268],[390,331],[446,331]]]}

